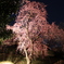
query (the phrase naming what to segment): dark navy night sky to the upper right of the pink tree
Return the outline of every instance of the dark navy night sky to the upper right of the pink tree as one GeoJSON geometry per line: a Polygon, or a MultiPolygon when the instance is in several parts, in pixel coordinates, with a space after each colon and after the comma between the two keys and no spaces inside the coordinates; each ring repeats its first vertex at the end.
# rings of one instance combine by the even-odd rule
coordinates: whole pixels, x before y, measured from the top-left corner
{"type": "MultiPolygon", "coordinates": [[[[33,0],[31,0],[33,1],[33,0]]],[[[34,0],[47,4],[48,22],[64,22],[64,1],[63,0],[34,0]]]]}

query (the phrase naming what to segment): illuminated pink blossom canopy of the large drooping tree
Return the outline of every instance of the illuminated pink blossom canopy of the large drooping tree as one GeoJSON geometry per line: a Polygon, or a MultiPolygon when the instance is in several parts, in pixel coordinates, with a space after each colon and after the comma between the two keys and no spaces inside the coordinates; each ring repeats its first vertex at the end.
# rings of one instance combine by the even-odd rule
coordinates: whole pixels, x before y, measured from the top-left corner
{"type": "Polygon", "coordinates": [[[26,54],[26,60],[28,61],[39,55],[47,55],[48,46],[43,43],[49,44],[48,41],[51,40],[54,40],[54,43],[59,41],[61,43],[64,42],[63,29],[59,29],[59,26],[54,23],[50,25],[47,22],[44,8],[43,3],[26,1],[20,8],[15,24],[13,26],[7,25],[7,29],[11,29],[15,34],[15,40],[18,40],[17,50],[22,54],[26,54]]]}

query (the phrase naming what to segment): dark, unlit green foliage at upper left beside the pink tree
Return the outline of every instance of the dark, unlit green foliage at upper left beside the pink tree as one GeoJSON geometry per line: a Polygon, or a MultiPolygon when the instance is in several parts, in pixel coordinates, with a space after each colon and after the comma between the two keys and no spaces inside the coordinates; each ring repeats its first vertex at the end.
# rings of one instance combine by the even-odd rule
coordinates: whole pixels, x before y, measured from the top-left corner
{"type": "Polygon", "coordinates": [[[7,31],[5,25],[14,22],[18,3],[20,0],[0,0],[0,44],[11,37],[11,31],[7,31]]]}

